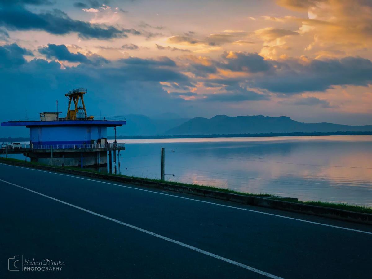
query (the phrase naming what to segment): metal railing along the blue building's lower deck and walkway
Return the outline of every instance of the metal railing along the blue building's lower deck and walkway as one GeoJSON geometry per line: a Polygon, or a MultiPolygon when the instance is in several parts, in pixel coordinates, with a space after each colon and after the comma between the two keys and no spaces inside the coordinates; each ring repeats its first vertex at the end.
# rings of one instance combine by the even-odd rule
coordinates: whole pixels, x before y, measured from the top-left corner
{"type": "MultiPolygon", "coordinates": [[[[124,147],[124,143],[106,143],[106,144],[20,144],[8,145],[8,149],[93,149],[93,148],[114,148],[124,147]]],[[[6,145],[1,145],[1,149],[6,149],[6,145]]]]}

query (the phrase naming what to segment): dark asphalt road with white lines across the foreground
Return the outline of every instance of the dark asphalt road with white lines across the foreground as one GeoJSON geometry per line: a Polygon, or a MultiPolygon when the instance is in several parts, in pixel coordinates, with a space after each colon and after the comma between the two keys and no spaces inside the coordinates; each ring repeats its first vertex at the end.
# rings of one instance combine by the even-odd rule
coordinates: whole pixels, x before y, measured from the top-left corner
{"type": "Polygon", "coordinates": [[[0,164],[0,278],[372,278],[371,248],[368,225],[0,164]]]}

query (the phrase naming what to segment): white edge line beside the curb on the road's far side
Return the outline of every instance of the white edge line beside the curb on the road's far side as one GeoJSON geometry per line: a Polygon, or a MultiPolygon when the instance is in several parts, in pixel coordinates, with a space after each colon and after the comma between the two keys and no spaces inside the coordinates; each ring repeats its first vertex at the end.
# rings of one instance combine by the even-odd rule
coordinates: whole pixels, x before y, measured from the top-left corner
{"type": "Polygon", "coordinates": [[[74,178],[77,178],[77,179],[89,180],[89,181],[93,181],[93,182],[105,183],[105,184],[109,184],[109,185],[115,185],[115,186],[120,186],[120,187],[124,187],[124,188],[129,188],[129,189],[134,189],[134,190],[139,190],[139,191],[145,191],[145,192],[155,193],[155,194],[158,194],[158,195],[171,196],[171,197],[179,198],[179,199],[187,199],[187,200],[195,201],[195,202],[203,202],[203,203],[208,203],[208,204],[212,204],[212,205],[218,205],[218,206],[223,206],[223,207],[228,207],[228,208],[234,208],[234,209],[239,209],[239,210],[244,210],[244,211],[249,211],[249,212],[255,212],[255,213],[259,213],[259,214],[270,215],[270,216],[275,216],[275,217],[280,217],[280,218],[285,218],[285,219],[291,219],[291,220],[295,220],[295,221],[300,221],[300,222],[305,222],[305,223],[310,223],[310,224],[315,224],[315,225],[321,225],[321,226],[325,226],[325,227],[337,228],[337,229],[341,229],[341,230],[354,231],[354,232],[362,232],[364,234],[372,234],[372,232],[369,232],[369,231],[354,230],[354,229],[350,229],[350,228],[344,228],[344,227],[339,227],[339,226],[334,226],[334,225],[328,225],[328,224],[323,224],[323,223],[318,223],[318,222],[312,222],[312,221],[307,221],[307,220],[302,220],[302,219],[297,219],[297,218],[282,216],[282,215],[278,215],[278,214],[272,214],[272,213],[267,213],[267,212],[262,212],[262,211],[256,211],[256,210],[247,209],[247,208],[241,208],[241,207],[230,206],[230,205],[223,205],[223,204],[214,203],[214,202],[206,202],[206,201],[201,201],[201,200],[198,200],[198,199],[190,199],[190,198],[185,198],[185,197],[181,197],[181,196],[174,196],[174,195],[170,195],[170,194],[165,194],[165,193],[160,193],[160,192],[154,192],[154,191],[150,191],[150,190],[139,189],[139,188],[136,188],[136,187],[124,186],[124,185],[120,185],[120,184],[115,184],[115,183],[110,183],[110,182],[104,182],[104,181],[99,181],[99,180],[94,180],[94,179],[88,179],[88,178],[83,178],[83,177],[78,177],[78,176],[73,176],[73,175],[68,175],[68,174],[54,173],[54,172],[51,172],[51,171],[37,170],[37,169],[31,169],[31,168],[26,168],[26,167],[13,166],[13,165],[8,165],[8,164],[3,164],[3,163],[0,163],[0,164],[1,165],[5,165],[5,166],[18,167],[18,168],[21,168],[21,169],[36,170],[36,171],[42,171],[44,173],[49,173],[49,174],[57,174],[57,175],[74,177],[74,178]]]}

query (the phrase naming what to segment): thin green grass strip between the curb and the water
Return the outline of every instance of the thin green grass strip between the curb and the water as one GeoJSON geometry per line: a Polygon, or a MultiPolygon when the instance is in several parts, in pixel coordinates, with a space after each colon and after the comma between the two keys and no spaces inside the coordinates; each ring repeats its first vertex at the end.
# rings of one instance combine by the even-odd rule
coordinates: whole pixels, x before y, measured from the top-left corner
{"type": "MultiPolygon", "coordinates": [[[[41,163],[35,163],[35,162],[25,162],[23,160],[18,160],[18,159],[15,159],[15,158],[0,158],[0,161],[3,161],[4,163],[6,163],[6,162],[17,162],[17,163],[26,163],[26,164],[49,167],[49,165],[47,165],[47,164],[41,164],[41,163]]],[[[62,167],[55,167],[55,168],[62,169],[62,167]]],[[[89,169],[81,169],[81,168],[78,168],[78,167],[64,167],[64,169],[86,171],[86,172],[90,172],[90,173],[99,173],[98,171],[89,170],[89,169]]],[[[111,173],[105,173],[105,174],[111,175],[111,176],[127,177],[127,178],[141,179],[141,180],[146,180],[146,181],[163,183],[163,181],[160,180],[160,179],[150,179],[150,178],[143,178],[143,177],[126,176],[126,175],[122,175],[122,174],[111,174],[111,173]]],[[[247,193],[247,192],[238,192],[238,191],[231,190],[231,189],[217,188],[217,187],[213,187],[213,186],[206,186],[206,185],[199,185],[199,184],[188,184],[188,183],[173,182],[173,181],[166,181],[166,183],[171,184],[171,185],[193,187],[193,188],[197,188],[197,189],[212,190],[212,191],[232,193],[232,194],[237,194],[237,195],[267,197],[267,198],[276,199],[275,195],[270,195],[268,193],[253,194],[253,193],[247,193]]],[[[280,198],[280,199],[278,198],[278,200],[286,201],[283,198],[280,198]]],[[[321,201],[305,201],[305,202],[303,202],[303,201],[293,201],[293,200],[291,200],[291,202],[302,203],[302,204],[307,204],[307,205],[322,206],[322,207],[326,207],[326,208],[342,209],[342,210],[346,210],[346,211],[353,211],[353,212],[359,212],[359,213],[372,214],[372,208],[369,207],[369,206],[351,205],[351,204],[348,204],[348,203],[321,202],[321,201]]]]}

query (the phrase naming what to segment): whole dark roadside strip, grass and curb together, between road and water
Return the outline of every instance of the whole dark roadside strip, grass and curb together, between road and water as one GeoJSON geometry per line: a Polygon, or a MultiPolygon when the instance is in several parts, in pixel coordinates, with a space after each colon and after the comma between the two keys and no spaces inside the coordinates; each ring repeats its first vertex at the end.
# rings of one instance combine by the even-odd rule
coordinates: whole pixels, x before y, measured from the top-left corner
{"type": "Polygon", "coordinates": [[[15,166],[58,171],[74,175],[129,183],[140,187],[152,187],[191,195],[223,199],[236,203],[251,204],[267,208],[276,208],[302,214],[317,215],[344,221],[372,224],[372,208],[369,206],[351,205],[348,203],[333,203],[321,201],[298,201],[296,198],[281,197],[267,193],[252,194],[214,186],[188,184],[182,182],[161,181],[143,177],[125,176],[122,174],[99,173],[77,167],[52,167],[41,163],[24,162],[13,158],[0,158],[0,163],[15,166]]]}

